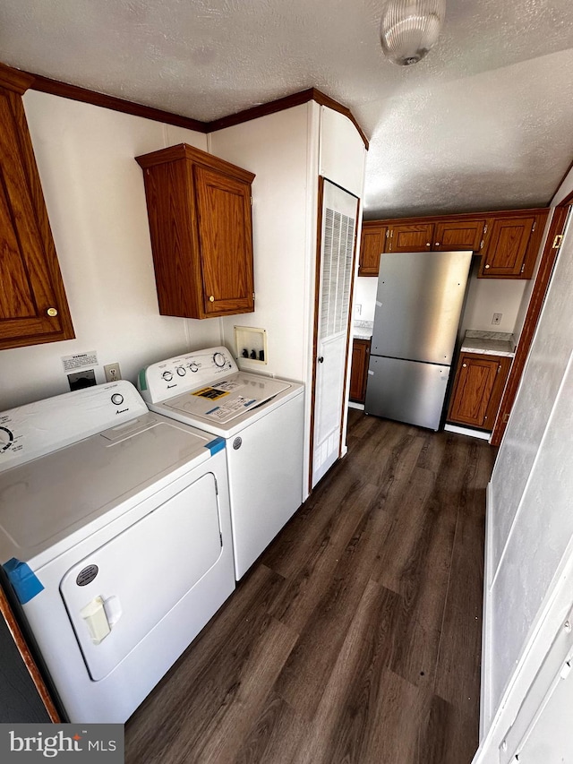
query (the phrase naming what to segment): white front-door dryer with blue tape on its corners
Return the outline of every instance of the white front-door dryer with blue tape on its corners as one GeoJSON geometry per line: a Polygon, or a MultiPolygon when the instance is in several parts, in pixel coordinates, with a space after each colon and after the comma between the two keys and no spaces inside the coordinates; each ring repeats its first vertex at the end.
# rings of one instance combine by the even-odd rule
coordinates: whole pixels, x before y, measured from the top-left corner
{"type": "Polygon", "coordinates": [[[124,722],[235,588],[225,442],[131,382],[0,413],[0,562],[72,722],[124,722]]]}

